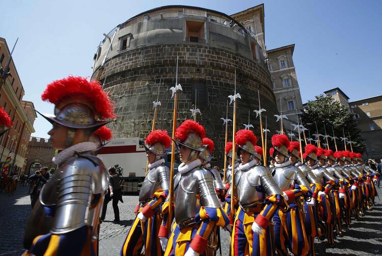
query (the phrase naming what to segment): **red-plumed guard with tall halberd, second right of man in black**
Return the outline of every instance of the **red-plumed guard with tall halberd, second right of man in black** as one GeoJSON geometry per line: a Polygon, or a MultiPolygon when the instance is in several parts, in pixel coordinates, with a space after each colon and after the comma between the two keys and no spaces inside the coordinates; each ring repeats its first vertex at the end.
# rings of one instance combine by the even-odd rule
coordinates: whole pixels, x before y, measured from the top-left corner
{"type": "MultiPolygon", "coordinates": [[[[199,159],[205,148],[202,143],[205,134],[204,127],[193,120],[185,120],[175,132],[182,163],[174,177],[175,223],[166,256],[205,255],[208,237],[215,225],[225,227],[229,223],[216,196],[213,176],[202,168],[199,159]]],[[[166,213],[166,209],[162,213],[166,213]]]]}

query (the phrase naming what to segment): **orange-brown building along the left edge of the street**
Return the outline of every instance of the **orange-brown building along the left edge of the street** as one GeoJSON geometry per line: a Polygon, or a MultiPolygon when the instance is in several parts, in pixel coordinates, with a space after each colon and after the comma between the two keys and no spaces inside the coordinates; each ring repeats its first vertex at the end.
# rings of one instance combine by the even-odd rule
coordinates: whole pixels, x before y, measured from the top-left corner
{"type": "MultiPolygon", "coordinates": [[[[7,41],[0,37],[0,67],[6,69],[10,56],[7,41]]],[[[31,101],[23,100],[24,89],[11,59],[7,71],[10,73],[1,80],[0,107],[8,112],[13,126],[0,138],[1,165],[11,152],[11,173],[21,174],[25,170],[25,155],[29,137],[35,132],[33,128],[36,112],[31,101]]],[[[1,75],[0,75],[1,76],[1,75]]]]}

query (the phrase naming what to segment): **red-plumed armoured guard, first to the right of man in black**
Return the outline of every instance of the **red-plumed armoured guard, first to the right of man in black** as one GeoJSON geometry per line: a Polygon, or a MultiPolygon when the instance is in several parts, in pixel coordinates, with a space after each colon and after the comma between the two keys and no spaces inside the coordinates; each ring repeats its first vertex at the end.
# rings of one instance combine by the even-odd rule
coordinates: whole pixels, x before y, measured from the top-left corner
{"type": "MultiPolygon", "coordinates": [[[[148,171],[139,194],[139,203],[134,212],[137,213],[125,242],[122,245],[121,256],[141,255],[145,245],[145,255],[162,255],[158,238],[162,228],[160,216],[162,202],[169,194],[170,171],[165,165],[166,148],[171,145],[167,131],[152,131],[145,140],[146,156],[149,162],[148,171]]],[[[167,217],[167,216],[166,216],[167,217]]]]}

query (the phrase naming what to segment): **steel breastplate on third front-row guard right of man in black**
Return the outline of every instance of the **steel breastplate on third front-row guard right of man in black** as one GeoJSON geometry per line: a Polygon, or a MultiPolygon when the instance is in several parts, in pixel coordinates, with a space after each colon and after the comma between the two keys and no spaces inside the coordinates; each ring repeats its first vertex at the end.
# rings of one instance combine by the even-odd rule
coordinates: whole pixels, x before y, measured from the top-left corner
{"type": "Polygon", "coordinates": [[[269,171],[263,166],[238,170],[235,175],[239,204],[251,207],[264,201],[267,194],[281,194],[269,171]]]}

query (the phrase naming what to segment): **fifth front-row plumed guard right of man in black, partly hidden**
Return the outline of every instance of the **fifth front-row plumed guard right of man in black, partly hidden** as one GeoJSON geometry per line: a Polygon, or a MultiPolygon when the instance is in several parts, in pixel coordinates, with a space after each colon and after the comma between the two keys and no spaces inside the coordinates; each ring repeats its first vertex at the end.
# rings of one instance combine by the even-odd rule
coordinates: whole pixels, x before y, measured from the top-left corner
{"type": "MultiPolygon", "coordinates": [[[[307,181],[310,183],[310,188],[313,192],[313,195],[309,201],[304,202],[305,210],[305,230],[308,236],[309,248],[310,251],[308,255],[315,255],[314,252],[314,238],[318,236],[317,231],[317,206],[316,201],[318,196],[318,191],[321,191],[322,185],[319,183],[316,175],[312,170],[305,164],[301,163],[301,154],[299,153],[300,144],[298,141],[291,141],[288,147],[289,151],[289,162],[292,165],[298,167],[306,177],[307,181]]],[[[321,228],[322,229],[322,228],[321,228]]]]}

